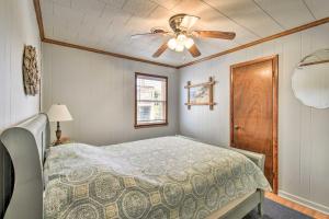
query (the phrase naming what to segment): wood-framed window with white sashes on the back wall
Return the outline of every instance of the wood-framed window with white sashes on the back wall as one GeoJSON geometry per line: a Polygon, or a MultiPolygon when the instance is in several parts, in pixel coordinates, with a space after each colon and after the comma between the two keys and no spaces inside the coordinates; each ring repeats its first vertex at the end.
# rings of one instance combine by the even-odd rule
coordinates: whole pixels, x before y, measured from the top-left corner
{"type": "Polygon", "coordinates": [[[135,127],[168,124],[168,78],[135,73],[135,127]]]}

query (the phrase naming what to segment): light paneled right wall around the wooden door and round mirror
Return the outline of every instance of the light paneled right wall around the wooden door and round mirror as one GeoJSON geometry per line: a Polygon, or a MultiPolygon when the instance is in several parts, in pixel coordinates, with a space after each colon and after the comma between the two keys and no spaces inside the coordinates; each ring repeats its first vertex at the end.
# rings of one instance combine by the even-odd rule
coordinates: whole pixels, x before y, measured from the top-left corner
{"type": "Polygon", "coordinates": [[[291,78],[306,55],[329,47],[329,24],[239,50],[180,70],[180,131],[209,143],[229,146],[229,67],[279,54],[279,189],[280,194],[329,212],[329,110],[304,106],[295,99],[291,78]],[[214,111],[188,111],[186,81],[214,76],[214,111]]]}

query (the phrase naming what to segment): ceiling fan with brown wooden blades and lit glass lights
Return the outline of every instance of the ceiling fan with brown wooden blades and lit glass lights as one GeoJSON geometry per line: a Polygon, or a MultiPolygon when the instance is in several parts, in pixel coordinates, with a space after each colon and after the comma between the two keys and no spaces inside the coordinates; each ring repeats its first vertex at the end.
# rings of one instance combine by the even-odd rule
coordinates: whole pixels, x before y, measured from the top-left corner
{"type": "Polygon", "coordinates": [[[198,20],[200,18],[194,15],[175,14],[169,19],[169,25],[172,32],[162,28],[151,28],[150,33],[135,34],[132,35],[132,38],[155,35],[171,36],[171,38],[167,39],[152,55],[154,58],[158,58],[167,48],[175,51],[183,51],[186,48],[193,57],[198,57],[201,53],[194,44],[194,37],[234,39],[236,36],[234,32],[191,30],[198,20]]]}

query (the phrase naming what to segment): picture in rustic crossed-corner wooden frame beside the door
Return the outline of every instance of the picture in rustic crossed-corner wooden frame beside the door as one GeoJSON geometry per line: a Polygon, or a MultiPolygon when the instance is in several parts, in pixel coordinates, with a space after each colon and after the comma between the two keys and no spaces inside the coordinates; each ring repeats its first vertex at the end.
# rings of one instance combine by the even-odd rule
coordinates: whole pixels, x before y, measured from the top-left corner
{"type": "Polygon", "coordinates": [[[205,83],[191,84],[191,81],[188,81],[184,87],[188,89],[188,103],[185,103],[188,108],[190,110],[192,105],[208,105],[213,110],[216,104],[214,103],[214,84],[212,77],[205,83]]]}

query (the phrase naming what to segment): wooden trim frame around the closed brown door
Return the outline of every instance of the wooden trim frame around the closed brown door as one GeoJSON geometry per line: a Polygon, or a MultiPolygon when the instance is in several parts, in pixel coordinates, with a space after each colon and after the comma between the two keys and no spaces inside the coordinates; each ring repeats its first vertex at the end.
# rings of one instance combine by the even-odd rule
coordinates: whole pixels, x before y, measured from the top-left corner
{"type": "Polygon", "coordinates": [[[279,55],[262,57],[250,61],[239,62],[230,66],[230,146],[234,145],[234,70],[235,68],[250,66],[263,61],[272,60],[272,94],[273,94],[273,107],[272,107],[272,148],[273,148],[273,193],[277,194],[279,174],[277,174],[277,116],[279,116],[279,55]]]}

